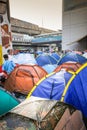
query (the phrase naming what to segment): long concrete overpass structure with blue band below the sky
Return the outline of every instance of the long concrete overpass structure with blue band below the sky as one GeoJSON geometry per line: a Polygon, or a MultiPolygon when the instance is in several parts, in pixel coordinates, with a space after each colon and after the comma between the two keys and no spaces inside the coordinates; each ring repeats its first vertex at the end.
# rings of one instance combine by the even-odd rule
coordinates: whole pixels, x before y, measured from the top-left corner
{"type": "Polygon", "coordinates": [[[12,45],[14,49],[42,49],[60,46],[62,31],[41,28],[38,25],[11,17],[12,45]],[[53,44],[53,45],[52,45],[53,44]]]}

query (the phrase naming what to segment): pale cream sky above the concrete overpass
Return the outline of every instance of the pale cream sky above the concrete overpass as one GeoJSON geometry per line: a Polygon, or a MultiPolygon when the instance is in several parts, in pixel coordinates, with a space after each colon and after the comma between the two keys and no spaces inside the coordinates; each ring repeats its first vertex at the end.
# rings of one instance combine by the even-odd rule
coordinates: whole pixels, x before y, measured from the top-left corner
{"type": "Polygon", "coordinates": [[[9,0],[11,17],[52,30],[62,29],[62,0],[9,0]]]}

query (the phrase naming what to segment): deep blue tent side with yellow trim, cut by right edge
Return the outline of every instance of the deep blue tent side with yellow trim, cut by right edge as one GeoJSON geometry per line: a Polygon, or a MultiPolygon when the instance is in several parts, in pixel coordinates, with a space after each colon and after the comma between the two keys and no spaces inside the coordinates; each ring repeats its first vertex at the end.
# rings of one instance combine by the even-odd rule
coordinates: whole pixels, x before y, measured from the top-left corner
{"type": "Polygon", "coordinates": [[[87,118],[87,63],[68,81],[61,101],[71,104],[87,118]]]}

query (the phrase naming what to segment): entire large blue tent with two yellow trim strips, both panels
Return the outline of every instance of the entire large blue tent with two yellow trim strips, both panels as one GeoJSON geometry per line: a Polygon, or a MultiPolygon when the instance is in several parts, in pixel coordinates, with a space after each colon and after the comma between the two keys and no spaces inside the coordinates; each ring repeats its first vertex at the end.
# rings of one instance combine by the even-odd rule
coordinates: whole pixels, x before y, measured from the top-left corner
{"type": "MultiPolygon", "coordinates": [[[[62,70],[63,71],[63,70],[62,70]]],[[[36,97],[61,100],[80,110],[87,118],[87,63],[76,72],[53,73],[40,82],[29,93],[36,97]]]]}

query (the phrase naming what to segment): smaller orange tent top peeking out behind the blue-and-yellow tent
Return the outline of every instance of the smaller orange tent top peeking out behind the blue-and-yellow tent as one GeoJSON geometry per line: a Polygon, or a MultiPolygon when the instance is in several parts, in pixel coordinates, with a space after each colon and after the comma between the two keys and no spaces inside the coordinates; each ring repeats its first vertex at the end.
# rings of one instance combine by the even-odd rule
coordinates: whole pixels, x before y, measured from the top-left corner
{"type": "Polygon", "coordinates": [[[71,71],[74,71],[76,72],[77,69],[79,69],[81,66],[80,63],[77,63],[77,62],[65,62],[63,63],[62,65],[58,66],[54,72],[58,72],[60,71],[61,69],[66,69],[67,71],[68,70],[71,70],[71,71]]]}

